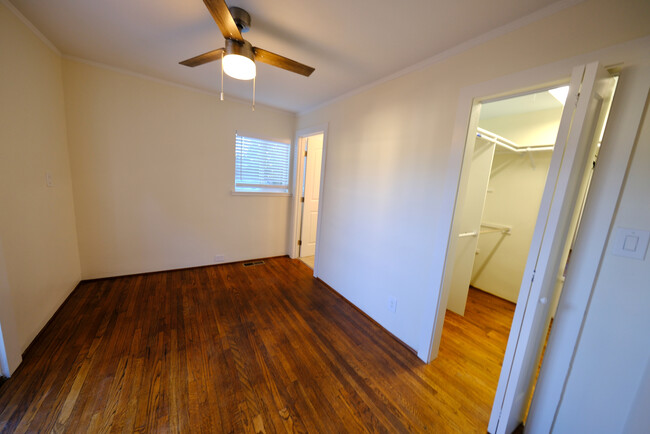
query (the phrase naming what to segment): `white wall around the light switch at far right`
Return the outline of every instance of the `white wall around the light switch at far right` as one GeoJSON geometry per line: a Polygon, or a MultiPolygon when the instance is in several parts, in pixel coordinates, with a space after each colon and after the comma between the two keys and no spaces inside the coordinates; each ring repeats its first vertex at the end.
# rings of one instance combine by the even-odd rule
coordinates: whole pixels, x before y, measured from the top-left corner
{"type": "MultiPolygon", "coordinates": [[[[645,71],[646,84],[640,91],[647,95],[650,67],[645,71]]],[[[628,417],[627,432],[647,432],[650,426],[650,254],[643,261],[612,254],[616,228],[650,231],[649,167],[650,113],[646,106],[555,432],[623,432],[622,421],[628,417]]]]}

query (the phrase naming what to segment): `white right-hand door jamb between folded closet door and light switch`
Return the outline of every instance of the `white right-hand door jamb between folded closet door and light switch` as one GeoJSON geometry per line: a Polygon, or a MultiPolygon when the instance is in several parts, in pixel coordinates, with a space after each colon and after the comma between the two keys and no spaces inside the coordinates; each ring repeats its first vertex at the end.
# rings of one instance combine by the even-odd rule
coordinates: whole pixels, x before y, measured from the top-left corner
{"type": "Polygon", "coordinates": [[[533,431],[550,432],[555,423],[591,294],[613,233],[618,199],[623,191],[636,137],[650,104],[649,71],[647,65],[631,67],[623,69],[619,76],[575,240],[571,268],[566,276],[526,421],[526,426],[533,431]]]}

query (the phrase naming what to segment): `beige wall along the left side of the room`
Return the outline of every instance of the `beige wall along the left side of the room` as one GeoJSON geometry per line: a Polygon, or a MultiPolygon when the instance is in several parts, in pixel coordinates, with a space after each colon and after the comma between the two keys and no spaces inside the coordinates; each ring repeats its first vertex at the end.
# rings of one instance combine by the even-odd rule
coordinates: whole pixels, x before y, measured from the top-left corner
{"type": "Polygon", "coordinates": [[[5,343],[22,352],[81,273],[61,59],[4,5],[0,53],[0,322],[10,303],[16,332],[5,343]]]}

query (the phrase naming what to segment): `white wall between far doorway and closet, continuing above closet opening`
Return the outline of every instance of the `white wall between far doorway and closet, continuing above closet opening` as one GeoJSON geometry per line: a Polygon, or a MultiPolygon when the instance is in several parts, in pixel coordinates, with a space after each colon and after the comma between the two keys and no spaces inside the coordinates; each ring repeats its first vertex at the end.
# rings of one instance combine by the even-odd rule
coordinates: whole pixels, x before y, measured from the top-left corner
{"type": "Polygon", "coordinates": [[[329,123],[319,277],[418,349],[433,310],[423,300],[438,298],[436,225],[461,89],[647,35],[649,14],[645,1],[586,1],[302,114],[299,128],[329,123]]]}

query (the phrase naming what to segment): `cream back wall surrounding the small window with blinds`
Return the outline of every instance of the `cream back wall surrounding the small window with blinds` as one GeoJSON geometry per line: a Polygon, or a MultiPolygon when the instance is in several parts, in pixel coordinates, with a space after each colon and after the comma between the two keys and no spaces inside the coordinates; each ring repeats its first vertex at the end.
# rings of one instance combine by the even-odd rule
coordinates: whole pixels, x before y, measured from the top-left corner
{"type": "Polygon", "coordinates": [[[286,254],[289,197],[234,196],[235,131],[292,140],[295,115],[64,62],[83,278],[286,254]]]}

